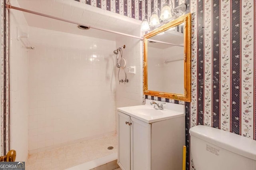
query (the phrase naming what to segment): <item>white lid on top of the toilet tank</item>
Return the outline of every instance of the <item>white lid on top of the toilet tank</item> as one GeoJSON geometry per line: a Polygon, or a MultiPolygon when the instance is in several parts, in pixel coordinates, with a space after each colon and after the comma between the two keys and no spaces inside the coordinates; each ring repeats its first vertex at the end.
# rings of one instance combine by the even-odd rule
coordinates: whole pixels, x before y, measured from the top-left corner
{"type": "Polygon", "coordinates": [[[189,133],[190,136],[195,136],[230,152],[256,160],[256,140],[203,125],[190,128],[189,133]]]}

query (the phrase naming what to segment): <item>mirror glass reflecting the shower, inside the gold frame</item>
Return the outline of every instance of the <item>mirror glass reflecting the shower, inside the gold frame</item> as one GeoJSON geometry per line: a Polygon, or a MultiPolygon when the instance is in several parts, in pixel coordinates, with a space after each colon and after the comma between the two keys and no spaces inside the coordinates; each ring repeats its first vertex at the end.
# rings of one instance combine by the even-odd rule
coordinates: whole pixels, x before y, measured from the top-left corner
{"type": "Polygon", "coordinates": [[[184,94],[184,36],[182,25],[184,24],[172,27],[148,40],[148,89],[152,91],[184,94]],[[168,78],[166,79],[166,77],[168,78]]]}

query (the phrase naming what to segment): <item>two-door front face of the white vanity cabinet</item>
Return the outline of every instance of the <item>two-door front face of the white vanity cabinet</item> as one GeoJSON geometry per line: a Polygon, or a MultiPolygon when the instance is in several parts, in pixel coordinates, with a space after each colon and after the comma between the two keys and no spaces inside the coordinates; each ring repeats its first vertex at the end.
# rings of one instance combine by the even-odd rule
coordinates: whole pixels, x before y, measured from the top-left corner
{"type": "Polygon", "coordinates": [[[118,164],[122,170],[150,170],[151,124],[118,111],[118,164]]]}

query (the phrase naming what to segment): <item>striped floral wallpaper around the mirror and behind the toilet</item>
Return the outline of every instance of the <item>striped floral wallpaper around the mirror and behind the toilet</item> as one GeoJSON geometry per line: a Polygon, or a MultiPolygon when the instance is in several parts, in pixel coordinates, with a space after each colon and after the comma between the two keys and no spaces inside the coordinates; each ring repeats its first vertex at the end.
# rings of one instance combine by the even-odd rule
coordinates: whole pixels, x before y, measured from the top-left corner
{"type": "MultiPolygon", "coordinates": [[[[142,16],[158,0],[142,1],[142,16]],[[154,3],[152,3],[154,2],[154,3]],[[145,4],[145,6],[144,6],[145,4]]],[[[191,98],[186,107],[187,170],[190,127],[205,125],[256,139],[256,1],[174,0],[192,15],[191,98]]]]}

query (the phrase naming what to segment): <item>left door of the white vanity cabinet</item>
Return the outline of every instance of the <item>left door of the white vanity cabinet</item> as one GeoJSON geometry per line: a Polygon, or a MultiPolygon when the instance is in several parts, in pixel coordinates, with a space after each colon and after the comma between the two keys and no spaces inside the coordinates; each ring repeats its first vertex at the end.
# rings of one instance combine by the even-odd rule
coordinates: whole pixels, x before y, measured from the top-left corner
{"type": "Polygon", "coordinates": [[[130,116],[118,111],[118,165],[122,170],[130,170],[130,116]]]}

